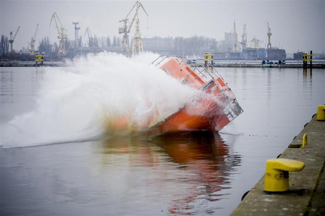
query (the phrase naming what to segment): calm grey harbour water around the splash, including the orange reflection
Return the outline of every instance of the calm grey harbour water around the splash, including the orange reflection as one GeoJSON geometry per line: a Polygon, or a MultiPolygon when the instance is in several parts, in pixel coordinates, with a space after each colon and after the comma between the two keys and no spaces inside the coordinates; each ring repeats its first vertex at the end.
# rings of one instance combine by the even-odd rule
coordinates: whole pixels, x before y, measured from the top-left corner
{"type": "MultiPolygon", "coordinates": [[[[324,103],[325,70],[217,69],[244,110],[219,133],[0,148],[0,214],[230,214],[324,103]]],[[[49,71],[0,71],[3,126],[38,109],[49,71]]]]}

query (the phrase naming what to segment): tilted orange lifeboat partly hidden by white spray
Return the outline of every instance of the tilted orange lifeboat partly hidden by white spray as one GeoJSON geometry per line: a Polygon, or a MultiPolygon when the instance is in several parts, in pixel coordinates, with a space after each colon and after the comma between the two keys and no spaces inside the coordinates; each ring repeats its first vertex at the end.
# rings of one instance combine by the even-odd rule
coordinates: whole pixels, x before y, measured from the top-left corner
{"type": "Polygon", "coordinates": [[[164,55],[152,64],[200,92],[178,112],[152,126],[159,133],[219,131],[243,112],[235,94],[213,65],[194,65],[186,57],[164,55]]]}

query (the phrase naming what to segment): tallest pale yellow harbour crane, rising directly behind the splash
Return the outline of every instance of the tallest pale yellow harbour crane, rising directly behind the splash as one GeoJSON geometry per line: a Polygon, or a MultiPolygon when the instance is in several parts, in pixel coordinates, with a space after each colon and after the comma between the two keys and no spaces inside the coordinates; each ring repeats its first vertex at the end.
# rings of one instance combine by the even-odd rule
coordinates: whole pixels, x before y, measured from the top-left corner
{"type": "Polygon", "coordinates": [[[128,42],[128,33],[131,30],[131,27],[134,23],[135,20],[136,21],[136,31],[134,34],[134,41],[133,41],[133,46],[132,46],[132,55],[136,55],[137,54],[137,49],[138,49],[138,53],[143,52],[143,44],[141,41],[141,32],[140,32],[140,20],[139,20],[139,8],[142,8],[143,11],[146,13],[146,15],[148,16],[146,10],[144,9],[143,5],[137,1],[136,4],[132,7],[131,11],[128,12],[128,14],[126,15],[126,17],[122,20],[119,20],[119,22],[124,22],[124,26],[123,27],[119,27],[118,29],[118,33],[124,33],[123,35],[123,42],[122,42],[122,53],[129,55],[130,54],[130,48],[129,48],[129,42],[128,42]],[[131,24],[129,24],[129,26],[127,26],[128,24],[128,15],[131,14],[131,12],[133,11],[133,9],[136,8],[136,13],[132,19],[131,24]]]}

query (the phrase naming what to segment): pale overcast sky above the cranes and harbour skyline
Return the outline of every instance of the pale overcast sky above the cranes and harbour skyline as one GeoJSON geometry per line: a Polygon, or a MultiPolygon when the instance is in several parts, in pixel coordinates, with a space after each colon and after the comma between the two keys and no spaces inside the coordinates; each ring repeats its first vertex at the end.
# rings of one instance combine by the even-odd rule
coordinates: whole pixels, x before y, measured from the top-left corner
{"type": "MultiPolygon", "coordinates": [[[[136,1],[13,1],[0,0],[0,33],[9,38],[10,31],[20,30],[14,49],[27,47],[28,41],[40,24],[36,47],[45,35],[57,40],[51,16],[57,13],[68,37],[74,39],[73,21],[79,21],[84,36],[88,26],[98,37],[118,35],[118,21],[123,19],[136,1]]],[[[325,0],[321,1],[141,1],[149,17],[140,11],[142,37],[190,37],[204,35],[224,39],[224,32],[233,30],[236,20],[238,40],[243,24],[247,23],[247,40],[263,41],[266,47],[267,22],[272,36],[272,47],[298,50],[325,50],[325,0]]],[[[131,15],[132,16],[132,15],[131,15]]],[[[135,27],[135,26],[134,26],[135,27]]],[[[133,27],[133,28],[134,28],[133,27]]],[[[134,29],[131,32],[133,37],[134,29]]]]}

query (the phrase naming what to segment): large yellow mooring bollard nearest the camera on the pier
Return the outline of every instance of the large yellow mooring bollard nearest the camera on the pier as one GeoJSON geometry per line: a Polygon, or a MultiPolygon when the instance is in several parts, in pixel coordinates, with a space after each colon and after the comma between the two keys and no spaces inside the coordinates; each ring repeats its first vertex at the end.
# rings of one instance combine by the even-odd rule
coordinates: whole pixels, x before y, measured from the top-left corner
{"type": "Polygon", "coordinates": [[[289,190],[289,171],[300,171],[305,163],[290,159],[270,159],[266,162],[264,191],[284,192],[289,190]]]}

